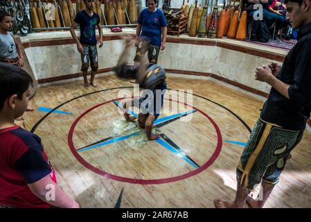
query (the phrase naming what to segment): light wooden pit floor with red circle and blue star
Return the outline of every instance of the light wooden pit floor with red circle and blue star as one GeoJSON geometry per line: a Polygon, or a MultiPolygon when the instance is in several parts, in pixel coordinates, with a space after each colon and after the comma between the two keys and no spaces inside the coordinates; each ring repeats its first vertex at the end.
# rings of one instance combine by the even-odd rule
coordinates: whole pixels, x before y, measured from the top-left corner
{"type": "MultiPolygon", "coordinates": [[[[159,120],[166,124],[158,129],[166,140],[148,142],[118,112],[121,100],[112,101],[123,97],[119,87],[132,83],[115,76],[97,80],[96,89],[82,81],[40,87],[30,106],[61,105],[57,111],[66,113],[42,119],[47,112],[27,112],[21,123],[42,137],[59,185],[82,207],[115,207],[121,191],[120,207],[213,207],[215,198],[234,198],[247,126],[253,128],[263,101],[211,80],[168,77],[170,89],[193,89],[193,105],[164,110],[159,120]],[[193,112],[192,119],[166,121],[182,112],[193,112]]],[[[305,132],[265,207],[311,207],[310,144],[305,132]]]]}

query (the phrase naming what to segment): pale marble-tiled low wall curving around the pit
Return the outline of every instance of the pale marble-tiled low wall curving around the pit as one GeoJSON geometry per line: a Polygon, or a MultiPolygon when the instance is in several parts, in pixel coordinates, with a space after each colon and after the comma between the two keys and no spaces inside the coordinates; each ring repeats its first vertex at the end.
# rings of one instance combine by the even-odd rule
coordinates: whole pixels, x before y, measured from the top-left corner
{"type": "MultiPolygon", "coordinates": [[[[123,47],[123,40],[111,40],[98,48],[99,69],[114,67],[123,47]]],[[[130,63],[135,50],[133,47],[130,52],[130,63]]],[[[80,72],[80,53],[75,44],[30,47],[26,53],[37,79],[80,72]]],[[[255,70],[271,61],[223,47],[197,44],[167,43],[166,49],[159,53],[159,64],[166,69],[211,73],[267,93],[270,87],[255,80],[255,70]]]]}

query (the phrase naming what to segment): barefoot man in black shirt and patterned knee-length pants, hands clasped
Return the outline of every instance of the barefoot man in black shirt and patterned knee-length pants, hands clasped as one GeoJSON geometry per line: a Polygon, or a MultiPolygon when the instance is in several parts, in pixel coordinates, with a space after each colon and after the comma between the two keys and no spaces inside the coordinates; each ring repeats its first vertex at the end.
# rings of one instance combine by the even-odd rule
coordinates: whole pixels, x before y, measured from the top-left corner
{"type": "Polygon", "coordinates": [[[257,67],[256,80],[272,86],[237,168],[236,200],[215,200],[215,207],[263,207],[278,182],[290,152],[302,139],[311,112],[311,3],[285,0],[287,19],[299,28],[299,41],[283,66],[257,67]],[[248,194],[262,185],[262,196],[248,194]]]}

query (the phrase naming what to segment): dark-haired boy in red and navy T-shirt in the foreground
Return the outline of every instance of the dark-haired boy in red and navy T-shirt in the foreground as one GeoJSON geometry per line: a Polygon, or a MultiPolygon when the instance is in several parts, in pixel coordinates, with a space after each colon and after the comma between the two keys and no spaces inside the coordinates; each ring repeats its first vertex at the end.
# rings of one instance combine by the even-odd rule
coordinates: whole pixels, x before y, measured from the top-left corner
{"type": "Polygon", "coordinates": [[[0,62],[0,207],[79,207],[57,186],[41,139],[14,123],[32,83],[23,69],[0,62]]]}

